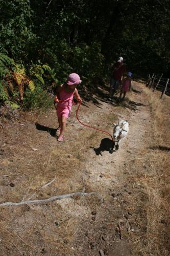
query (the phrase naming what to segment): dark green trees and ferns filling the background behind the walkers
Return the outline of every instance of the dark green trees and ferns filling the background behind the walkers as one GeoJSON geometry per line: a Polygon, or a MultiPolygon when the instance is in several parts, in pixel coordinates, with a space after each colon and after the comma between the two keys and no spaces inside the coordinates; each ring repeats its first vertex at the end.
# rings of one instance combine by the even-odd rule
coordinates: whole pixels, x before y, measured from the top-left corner
{"type": "Polygon", "coordinates": [[[1,101],[35,99],[71,72],[108,79],[118,56],[132,73],[169,76],[169,3],[0,0],[1,101]]]}

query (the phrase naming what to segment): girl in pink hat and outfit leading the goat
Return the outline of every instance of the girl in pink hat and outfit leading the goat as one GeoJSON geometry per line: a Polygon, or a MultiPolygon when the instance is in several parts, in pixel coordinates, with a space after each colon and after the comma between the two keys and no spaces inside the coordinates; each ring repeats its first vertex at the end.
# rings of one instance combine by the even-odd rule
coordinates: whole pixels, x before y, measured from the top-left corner
{"type": "Polygon", "coordinates": [[[58,141],[63,141],[63,134],[65,131],[66,120],[69,116],[72,106],[72,99],[75,96],[78,101],[82,101],[78,90],[76,89],[77,85],[81,83],[80,76],[76,73],[72,73],[67,77],[66,83],[58,86],[56,91],[56,96],[54,103],[57,110],[60,135],[58,141]]]}

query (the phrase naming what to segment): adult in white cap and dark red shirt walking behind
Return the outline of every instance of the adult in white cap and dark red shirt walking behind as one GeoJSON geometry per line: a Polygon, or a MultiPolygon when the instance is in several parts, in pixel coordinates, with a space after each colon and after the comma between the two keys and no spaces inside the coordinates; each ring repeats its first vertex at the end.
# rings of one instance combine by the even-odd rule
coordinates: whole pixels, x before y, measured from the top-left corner
{"type": "Polygon", "coordinates": [[[117,91],[121,82],[122,76],[126,73],[126,65],[123,64],[123,57],[119,57],[117,62],[113,65],[113,73],[110,79],[110,98],[113,99],[113,95],[117,91]]]}

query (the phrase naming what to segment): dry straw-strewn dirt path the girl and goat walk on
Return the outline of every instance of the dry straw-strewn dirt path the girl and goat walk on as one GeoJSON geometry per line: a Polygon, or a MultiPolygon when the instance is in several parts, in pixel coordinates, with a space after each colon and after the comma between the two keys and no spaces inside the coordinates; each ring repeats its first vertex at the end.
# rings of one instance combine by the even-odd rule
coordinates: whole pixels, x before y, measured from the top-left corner
{"type": "Polygon", "coordinates": [[[1,202],[76,191],[95,191],[104,198],[102,205],[98,197],[89,196],[3,207],[3,255],[100,255],[100,250],[105,255],[131,255],[145,228],[144,195],[137,180],[148,172],[144,162],[152,140],[150,107],[141,91],[141,84],[134,82],[124,107],[100,100],[95,106],[82,106],[82,121],[110,132],[112,118],[129,121],[128,137],[113,154],[107,136],[79,125],[76,108],[61,144],[54,137],[54,111],[2,120],[1,202]],[[41,188],[54,178],[50,186],[41,188]]]}

